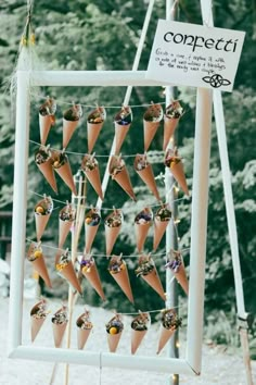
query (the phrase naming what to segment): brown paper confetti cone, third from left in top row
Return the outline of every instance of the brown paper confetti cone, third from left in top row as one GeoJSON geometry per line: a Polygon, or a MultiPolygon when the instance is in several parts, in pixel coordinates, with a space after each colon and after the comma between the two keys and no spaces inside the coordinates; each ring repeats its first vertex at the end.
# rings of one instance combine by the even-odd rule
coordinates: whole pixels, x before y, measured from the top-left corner
{"type": "Polygon", "coordinates": [[[87,119],[88,153],[91,153],[106,119],[104,107],[98,107],[87,119]]]}

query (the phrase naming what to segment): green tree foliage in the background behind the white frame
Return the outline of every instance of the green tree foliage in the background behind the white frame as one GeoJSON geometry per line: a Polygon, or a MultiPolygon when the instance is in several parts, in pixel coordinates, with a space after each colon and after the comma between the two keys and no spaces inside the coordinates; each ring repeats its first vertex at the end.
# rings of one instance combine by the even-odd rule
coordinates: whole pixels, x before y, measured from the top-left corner
{"type": "MultiPolygon", "coordinates": [[[[35,1],[33,25],[36,33],[36,49],[39,61],[39,69],[48,70],[130,70],[132,66],[136,47],[140,38],[143,18],[146,12],[146,1],[63,1],[55,2],[38,0],[35,1]]],[[[229,158],[232,172],[232,188],[234,195],[235,215],[239,233],[239,251],[241,257],[241,268],[245,293],[246,310],[255,313],[255,271],[256,271],[256,235],[255,235],[255,67],[256,51],[253,49],[256,39],[256,5],[254,1],[235,0],[223,2],[213,1],[215,25],[217,27],[240,29],[246,32],[246,39],[235,79],[234,91],[223,94],[225,115],[227,124],[229,158]]],[[[0,35],[0,208],[11,209],[12,207],[12,183],[13,183],[13,160],[14,160],[14,111],[15,105],[11,103],[8,91],[8,79],[12,74],[17,58],[20,38],[26,21],[25,1],[2,0],[0,4],[1,35],[0,35]]],[[[165,1],[156,0],[153,17],[146,36],[143,54],[139,70],[145,70],[157,18],[165,17],[165,1]]],[[[177,17],[179,21],[189,23],[202,23],[200,1],[179,1],[177,17]]],[[[95,102],[104,105],[120,105],[125,96],[125,87],[61,87],[33,89],[31,95],[31,124],[30,139],[39,141],[38,128],[38,107],[43,101],[43,97],[50,95],[60,101],[57,107],[56,125],[50,134],[50,144],[61,148],[62,113],[67,104],[73,101],[92,105],[95,102]],[[40,97],[42,96],[42,97],[40,97]],[[62,103],[64,102],[64,103],[62,103]]],[[[178,97],[185,107],[185,115],[182,117],[178,129],[179,151],[184,159],[184,167],[188,181],[192,184],[193,174],[193,133],[195,114],[195,89],[181,87],[178,89],[178,97]]],[[[164,101],[165,97],[162,88],[136,87],[132,91],[130,104],[149,103],[151,100],[164,101]]],[[[12,100],[13,101],[13,100],[12,100]]],[[[99,154],[107,154],[112,144],[114,127],[113,116],[116,109],[107,109],[107,122],[102,131],[95,151],[99,154]]],[[[86,152],[86,115],[91,108],[84,109],[84,119],[79,129],[75,133],[68,150],[74,152],[86,152]]],[[[143,108],[135,108],[135,121],[132,129],[127,136],[123,148],[123,153],[136,153],[142,151],[142,114],[143,108]]],[[[162,134],[157,134],[152,150],[159,150],[162,146],[162,134]]],[[[34,151],[37,146],[29,146],[29,172],[28,190],[38,194],[51,194],[49,186],[42,178],[34,164],[34,151]]],[[[16,154],[18,156],[18,154],[16,154]]],[[[75,172],[80,164],[81,157],[69,157],[72,169],[75,172]]],[[[132,158],[127,159],[132,185],[137,186],[138,200],[154,202],[148,189],[135,175],[132,170],[132,158]]],[[[101,173],[103,173],[106,159],[100,158],[101,173]]],[[[152,153],[154,172],[164,172],[163,164],[157,163],[157,159],[152,153]]],[[[164,197],[164,185],[157,182],[162,197],[164,197]]],[[[60,179],[59,179],[59,186],[60,179]]],[[[207,266],[206,266],[206,319],[209,314],[218,313],[219,310],[233,314],[235,303],[232,261],[226,219],[223,200],[222,179],[216,131],[213,129],[210,179],[209,179],[209,208],[208,208],[208,238],[207,238],[207,266]]],[[[60,189],[62,201],[69,199],[69,192],[65,186],[60,189]]],[[[182,195],[180,196],[182,197],[182,195]]],[[[54,197],[53,197],[54,198],[54,197]]],[[[28,222],[27,236],[35,238],[34,218],[30,214],[33,207],[38,200],[33,194],[28,195],[28,222]]],[[[88,187],[88,203],[94,204],[97,197],[92,189],[88,187]]],[[[118,186],[110,183],[104,207],[124,206],[125,226],[115,246],[114,252],[135,254],[135,239],[132,221],[138,207],[127,201],[126,195],[118,186]]],[[[143,203],[141,203],[143,206],[143,203]]],[[[140,206],[142,208],[142,206],[140,206]]],[[[15,214],[15,213],[14,213],[15,214]]],[[[102,213],[106,216],[107,212],[102,213]]],[[[57,210],[54,212],[53,221],[57,221],[57,210]],[[55,218],[54,218],[55,215],[55,218]]],[[[190,201],[181,200],[179,203],[180,248],[190,246],[190,201]]],[[[56,222],[55,222],[56,223],[56,222]]],[[[46,233],[46,241],[56,244],[57,229],[49,229],[46,233]]],[[[56,226],[55,226],[56,227],[56,226]]],[[[104,234],[102,229],[97,235],[95,252],[104,251],[104,234]]],[[[152,237],[149,238],[146,248],[151,251],[152,237]]],[[[81,245],[82,247],[82,241],[81,245]]],[[[161,244],[159,253],[164,252],[164,241],[161,244]]],[[[136,259],[130,259],[129,269],[136,266],[136,259]]],[[[164,281],[163,260],[156,260],[162,280],[164,281]]],[[[189,272],[189,256],[185,257],[185,264],[189,272]]],[[[102,272],[106,271],[107,262],[100,261],[102,272]]],[[[102,273],[103,274],[103,273],[102,273]]],[[[107,294],[105,306],[116,308],[119,311],[129,311],[132,308],[127,303],[125,297],[113,284],[112,277],[106,272],[103,275],[104,288],[107,294]]],[[[131,283],[138,309],[161,308],[163,303],[153,291],[145,290],[145,286],[131,275],[131,283]]],[[[87,287],[87,300],[97,303],[98,297],[87,287]]],[[[182,296],[182,294],[181,294],[182,296]]]]}

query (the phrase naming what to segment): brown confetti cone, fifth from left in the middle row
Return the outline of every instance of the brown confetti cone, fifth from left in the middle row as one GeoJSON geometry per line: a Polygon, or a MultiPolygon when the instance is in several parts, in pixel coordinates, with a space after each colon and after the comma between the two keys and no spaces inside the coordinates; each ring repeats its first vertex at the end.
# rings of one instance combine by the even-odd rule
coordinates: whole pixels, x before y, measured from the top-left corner
{"type": "Polygon", "coordinates": [[[143,249],[145,238],[148,236],[149,229],[152,225],[153,214],[149,208],[143,209],[136,215],[135,220],[135,231],[138,251],[141,252],[143,249]]]}

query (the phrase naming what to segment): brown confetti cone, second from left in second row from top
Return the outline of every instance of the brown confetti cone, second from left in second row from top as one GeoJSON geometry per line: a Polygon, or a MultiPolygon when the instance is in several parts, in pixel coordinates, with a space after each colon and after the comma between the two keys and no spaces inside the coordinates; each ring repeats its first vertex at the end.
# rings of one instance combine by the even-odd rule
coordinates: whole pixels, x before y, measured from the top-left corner
{"type": "Polygon", "coordinates": [[[67,154],[64,151],[51,151],[52,164],[55,172],[61,176],[74,195],[77,195],[73,179],[72,169],[67,154]]]}

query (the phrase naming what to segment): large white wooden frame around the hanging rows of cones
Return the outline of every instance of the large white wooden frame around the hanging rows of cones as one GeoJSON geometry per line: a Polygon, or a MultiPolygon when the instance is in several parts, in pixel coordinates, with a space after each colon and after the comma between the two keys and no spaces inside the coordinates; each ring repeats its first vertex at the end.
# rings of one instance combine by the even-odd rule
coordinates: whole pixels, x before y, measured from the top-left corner
{"type": "Polygon", "coordinates": [[[130,355],[101,351],[39,348],[22,345],[23,256],[25,256],[26,236],[30,84],[34,86],[163,86],[163,84],[146,79],[145,72],[17,72],[9,357],[130,370],[148,370],[163,373],[200,374],[204,311],[212,90],[200,88],[197,89],[196,97],[187,353],[185,359],[176,359],[133,357],[130,355]]]}

